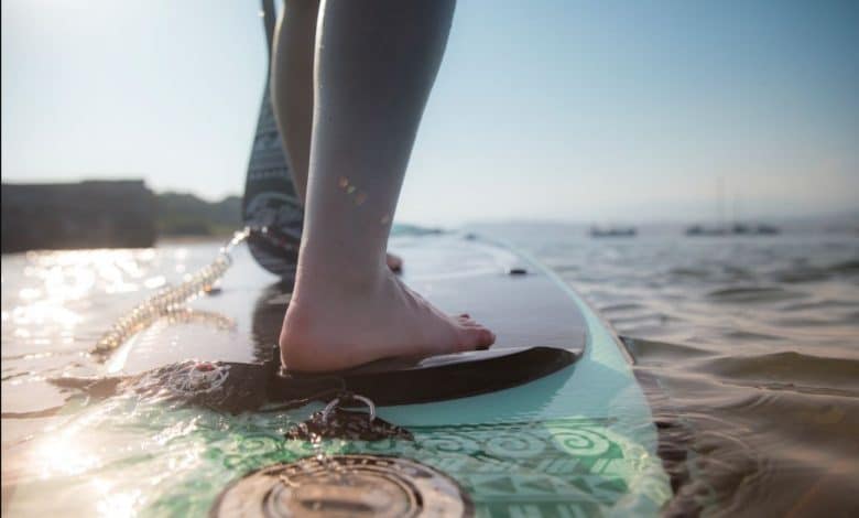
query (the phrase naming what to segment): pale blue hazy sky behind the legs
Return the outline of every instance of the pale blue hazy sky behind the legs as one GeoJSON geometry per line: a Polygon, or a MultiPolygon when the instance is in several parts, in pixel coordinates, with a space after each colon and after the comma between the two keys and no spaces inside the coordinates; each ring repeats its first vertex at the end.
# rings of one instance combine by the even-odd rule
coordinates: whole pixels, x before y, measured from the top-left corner
{"type": "MultiPolygon", "coordinates": [[[[1,9],[3,182],[241,194],[259,3],[1,9]]],[[[398,220],[725,211],[859,211],[859,2],[459,0],[398,220]]]]}

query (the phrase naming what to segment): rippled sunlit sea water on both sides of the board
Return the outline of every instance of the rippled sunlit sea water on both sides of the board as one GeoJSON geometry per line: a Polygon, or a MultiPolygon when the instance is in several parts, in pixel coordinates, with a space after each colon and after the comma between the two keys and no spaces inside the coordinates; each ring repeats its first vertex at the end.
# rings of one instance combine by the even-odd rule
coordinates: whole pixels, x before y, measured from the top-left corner
{"type": "MultiPolygon", "coordinates": [[[[857,235],[470,230],[534,255],[623,336],[662,453],[676,461],[667,464],[675,497],[666,514],[859,515],[857,235]]],[[[66,396],[45,380],[97,374],[87,350],[110,324],[207,265],[218,246],[3,256],[4,501],[22,470],[17,452],[62,425],[66,396]]]]}

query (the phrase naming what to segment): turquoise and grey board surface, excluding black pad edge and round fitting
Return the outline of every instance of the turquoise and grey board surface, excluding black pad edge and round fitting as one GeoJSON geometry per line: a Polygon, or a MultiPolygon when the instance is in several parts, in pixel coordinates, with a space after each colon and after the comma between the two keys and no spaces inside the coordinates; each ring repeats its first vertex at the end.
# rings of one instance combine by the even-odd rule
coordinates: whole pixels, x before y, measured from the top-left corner
{"type": "MultiPolygon", "coordinates": [[[[378,408],[412,440],[284,438],[320,403],[230,416],[133,395],[91,402],[69,410],[62,434],[45,446],[73,451],[63,457],[69,470],[18,487],[9,510],[83,516],[126,506],[131,515],[205,516],[216,500],[230,501],[219,495],[249,473],[371,455],[416,462],[457,485],[468,500],[463,508],[476,516],[659,514],[672,492],[650,408],[616,336],[573,291],[531,259],[480,239],[406,237],[392,249],[412,288],[486,323],[498,334],[494,348],[562,347],[579,359],[492,393],[378,408]]],[[[133,374],[186,358],[268,359],[289,293],[246,249],[235,256],[217,294],[129,339],[107,368],[133,374]]]]}

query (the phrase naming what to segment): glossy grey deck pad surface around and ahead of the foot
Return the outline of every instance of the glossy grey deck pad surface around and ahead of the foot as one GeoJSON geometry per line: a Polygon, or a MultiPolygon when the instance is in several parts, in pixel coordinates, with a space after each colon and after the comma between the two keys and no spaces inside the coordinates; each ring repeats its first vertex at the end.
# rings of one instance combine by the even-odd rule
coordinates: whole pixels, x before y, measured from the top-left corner
{"type": "MultiPolygon", "coordinates": [[[[537,346],[577,354],[584,349],[585,321],[575,302],[515,253],[458,235],[401,238],[396,246],[405,261],[401,277],[412,289],[449,314],[469,313],[496,333],[498,341],[486,354],[537,346]]],[[[187,314],[156,324],[129,341],[109,361],[110,370],[137,374],[187,358],[270,358],[290,287],[259,268],[246,247],[233,256],[235,263],[215,294],[193,301],[187,314]]],[[[445,359],[456,358],[426,361],[445,359]]],[[[414,363],[381,361],[380,368],[414,363]]]]}

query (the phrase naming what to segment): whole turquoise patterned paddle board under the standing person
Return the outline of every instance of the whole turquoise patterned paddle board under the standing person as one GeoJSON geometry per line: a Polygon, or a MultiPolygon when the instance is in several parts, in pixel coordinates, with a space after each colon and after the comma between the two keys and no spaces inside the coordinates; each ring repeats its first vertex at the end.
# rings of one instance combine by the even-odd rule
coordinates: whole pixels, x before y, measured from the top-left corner
{"type": "Polygon", "coordinates": [[[9,512],[659,514],[672,490],[650,408],[622,345],[581,299],[529,257],[480,238],[392,244],[406,283],[445,311],[486,322],[497,344],[340,373],[334,377],[365,382],[287,408],[276,391],[251,410],[188,403],[175,393],[215,397],[248,381],[236,366],[265,365],[274,354],[290,291],[239,247],[219,290],[109,356],[110,376],[154,389],[69,408],[64,425],[31,444],[31,465],[44,476],[18,485],[9,512]],[[499,367],[493,358],[515,360],[499,367]],[[196,374],[152,375],[188,363],[196,374]],[[433,369],[441,370],[428,384],[433,369]]]}

